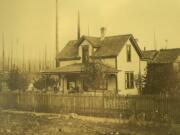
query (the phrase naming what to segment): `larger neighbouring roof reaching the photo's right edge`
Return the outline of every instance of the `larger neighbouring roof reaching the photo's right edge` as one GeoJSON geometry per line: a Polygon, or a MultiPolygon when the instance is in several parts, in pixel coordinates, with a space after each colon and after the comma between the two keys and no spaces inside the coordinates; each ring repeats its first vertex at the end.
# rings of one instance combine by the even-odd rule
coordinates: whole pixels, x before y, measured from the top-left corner
{"type": "Polygon", "coordinates": [[[153,63],[173,63],[180,62],[180,48],[162,49],[153,59],[153,63]]]}

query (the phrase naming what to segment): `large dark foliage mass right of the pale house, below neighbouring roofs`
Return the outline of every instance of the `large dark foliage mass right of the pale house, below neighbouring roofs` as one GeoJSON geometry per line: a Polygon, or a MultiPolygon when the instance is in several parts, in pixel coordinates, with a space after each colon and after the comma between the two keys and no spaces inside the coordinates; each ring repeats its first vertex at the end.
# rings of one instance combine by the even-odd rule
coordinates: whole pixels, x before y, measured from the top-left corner
{"type": "Polygon", "coordinates": [[[172,64],[148,64],[142,94],[179,94],[180,76],[172,64]]]}

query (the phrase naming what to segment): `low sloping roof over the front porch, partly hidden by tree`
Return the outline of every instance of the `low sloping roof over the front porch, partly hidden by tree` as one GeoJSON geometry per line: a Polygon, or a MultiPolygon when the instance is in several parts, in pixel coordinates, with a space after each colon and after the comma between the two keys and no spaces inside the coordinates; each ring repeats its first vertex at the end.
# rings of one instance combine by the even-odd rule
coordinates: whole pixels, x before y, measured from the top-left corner
{"type": "MultiPolygon", "coordinates": [[[[118,70],[116,68],[110,67],[108,65],[102,65],[102,70],[105,73],[117,73],[118,70]]],[[[58,67],[55,69],[49,69],[41,71],[41,73],[44,74],[60,74],[60,73],[83,73],[84,72],[84,66],[82,63],[75,63],[71,65],[66,65],[63,67],[58,67]]]]}

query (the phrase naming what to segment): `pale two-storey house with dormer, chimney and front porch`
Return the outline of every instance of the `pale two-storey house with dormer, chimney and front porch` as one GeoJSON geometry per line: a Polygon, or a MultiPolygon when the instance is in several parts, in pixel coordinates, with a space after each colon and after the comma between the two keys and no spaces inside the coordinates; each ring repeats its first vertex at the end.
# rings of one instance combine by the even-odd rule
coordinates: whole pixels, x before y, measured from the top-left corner
{"type": "Polygon", "coordinates": [[[93,57],[101,59],[106,74],[106,83],[96,91],[136,95],[138,88],[135,79],[141,72],[142,55],[132,34],[105,36],[105,28],[101,28],[100,37],[82,36],[78,40],[69,41],[56,57],[59,67],[46,73],[59,75],[64,93],[71,87],[91,91],[87,90],[82,74],[84,64],[93,57]]]}

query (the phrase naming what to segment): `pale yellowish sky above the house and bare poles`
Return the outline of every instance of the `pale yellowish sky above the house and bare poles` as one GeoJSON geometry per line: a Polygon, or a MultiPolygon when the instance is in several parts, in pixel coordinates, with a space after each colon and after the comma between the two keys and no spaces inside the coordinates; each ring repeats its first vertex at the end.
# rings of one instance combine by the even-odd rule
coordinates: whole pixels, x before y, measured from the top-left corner
{"type": "MultiPolygon", "coordinates": [[[[180,47],[180,0],[59,0],[59,49],[77,38],[77,12],[81,35],[133,34],[140,48],[180,47]],[[165,40],[168,42],[166,43],[165,40]]],[[[6,55],[25,59],[55,57],[55,0],[0,0],[0,50],[4,35],[6,55]],[[3,36],[2,36],[3,37],[3,36]]],[[[0,54],[2,52],[0,51],[0,54]]]]}

